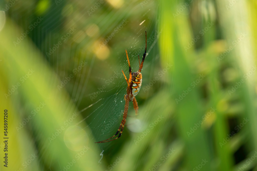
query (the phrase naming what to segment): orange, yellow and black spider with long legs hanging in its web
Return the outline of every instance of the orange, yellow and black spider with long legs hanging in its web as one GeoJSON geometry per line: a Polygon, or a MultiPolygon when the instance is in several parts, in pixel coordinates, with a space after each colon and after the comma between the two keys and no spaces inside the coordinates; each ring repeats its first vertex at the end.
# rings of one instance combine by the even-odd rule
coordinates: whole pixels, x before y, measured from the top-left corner
{"type": "MultiPolygon", "coordinates": [[[[125,49],[125,51],[126,51],[127,60],[128,60],[127,49],[125,49]]],[[[108,138],[108,139],[103,140],[103,141],[95,142],[95,143],[106,143],[106,142],[113,141],[113,140],[118,139],[118,138],[121,137],[123,129],[124,129],[124,126],[125,126],[125,123],[126,123],[129,102],[133,102],[133,106],[134,106],[134,109],[135,109],[135,112],[136,112],[136,115],[137,115],[138,105],[137,105],[135,96],[139,92],[141,84],[142,84],[141,69],[143,68],[143,63],[144,63],[145,55],[146,55],[146,31],[145,31],[145,53],[143,54],[143,59],[142,59],[141,64],[140,64],[140,59],[139,59],[139,55],[138,55],[138,61],[139,61],[139,69],[138,69],[138,71],[134,72],[134,73],[131,73],[131,67],[130,67],[129,60],[128,60],[128,66],[129,66],[129,79],[128,80],[127,80],[127,77],[125,76],[123,70],[121,70],[123,75],[124,75],[124,77],[125,77],[125,79],[126,79],[126,82],[127,82],[128,86],[127,86],[127,94],[124,96],[124,99],[125,99],[125,109],[124,109],[124,112],[123,112],[123,119],[121,121],[120,127],[117,130],[116,134],[114,136],[112,136],[111,138],[108,138]],[[120,132],[120,134],[118,135],[119,132],[120,132]],[[112,139],[116,135],[118,135],[118,137],[112,139]],[[112,139],[112,140],[109,140],[109,139],[112,139]]]]}

